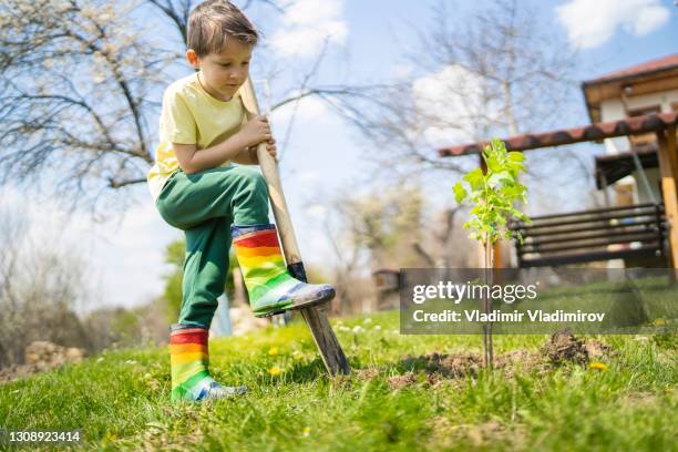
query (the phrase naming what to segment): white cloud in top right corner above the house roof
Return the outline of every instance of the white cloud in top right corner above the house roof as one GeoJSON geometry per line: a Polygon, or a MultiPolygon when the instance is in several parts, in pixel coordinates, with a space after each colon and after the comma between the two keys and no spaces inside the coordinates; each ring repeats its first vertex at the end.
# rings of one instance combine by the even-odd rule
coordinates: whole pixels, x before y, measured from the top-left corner
{"type": "Polygon", "coordinates": [[[634,35],[664,25],[670,16],[659,0],[571,0],[556,7],[573,47],[590,49],[604,44],[618,27],[634,35]]]}

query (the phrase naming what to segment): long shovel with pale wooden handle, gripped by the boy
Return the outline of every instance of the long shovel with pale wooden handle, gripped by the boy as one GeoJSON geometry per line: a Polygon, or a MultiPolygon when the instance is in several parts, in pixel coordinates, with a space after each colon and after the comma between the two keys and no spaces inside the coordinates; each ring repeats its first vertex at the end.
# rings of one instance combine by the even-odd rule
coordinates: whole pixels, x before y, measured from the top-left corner
{"type": "MultiPolygon", "coordinates": [[[[240,96],[243,97],[243,104],[249,112],[256,115],[260,114],[251,80],[248,79],[240,88],[240,96]]],[[[282,185],[280,184],[278,165],[266,151],[266,143],[261,143],[257,147],[257,157],[259,158],[259,166],[261,167],[261,173],[268,185],[270,204],[273,206],[274,216],[276,217],[276,225],[278,227],[278,234],[280,235],[287,267],[295,278],[307,282],[297,237],[295,236],[295,230],[289,217],[289,209],[287,208],[287,202],[282,193],[282,185]]],[[[326,308],[328,305],[329,304],[325,304],[322,306],[301,309],[301,315],[314,336],[327,371],[332,376],[338,373],[349,374],[351,369],[326,316],[326,308]]]]}

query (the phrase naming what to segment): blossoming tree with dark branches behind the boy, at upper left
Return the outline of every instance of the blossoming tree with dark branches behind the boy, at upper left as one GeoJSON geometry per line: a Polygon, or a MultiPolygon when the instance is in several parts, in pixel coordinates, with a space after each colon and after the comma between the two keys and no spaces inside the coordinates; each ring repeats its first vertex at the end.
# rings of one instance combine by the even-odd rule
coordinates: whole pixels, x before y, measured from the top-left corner
{"type": "MultiPolygon", "coordinates": [[[[186,24],[197,3],[0,3],[0,184],[42,182],[39,187],[69,209],[88,207],[95,218],[124,209],[132,199],[121,188],[144,183],[153,164],[151,124],[157,122],[164,88],[186,68],[186,24]]],[[[285,11],[274,0],[239,4],[285,11]]],[[[265,40],[260,51],[265,58],[255,60],[255,76],[279,74],[282,64],[266,51],[265,40]]],[[[308,71],[276,91],[271,110],[323,92],[312,85],[323,55],[325,49],[308,71]]]]}

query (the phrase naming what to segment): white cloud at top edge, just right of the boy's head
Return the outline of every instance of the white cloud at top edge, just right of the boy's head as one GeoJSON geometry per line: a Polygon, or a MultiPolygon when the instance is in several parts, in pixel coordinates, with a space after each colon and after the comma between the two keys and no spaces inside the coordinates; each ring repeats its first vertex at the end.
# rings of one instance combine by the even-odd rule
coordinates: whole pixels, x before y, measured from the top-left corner
{"type": "Polygon", "coordinates": [[[296,0],[282,14],[270,45],[282,56],[312,56],[325,43],[343,44],[348,24],[341,17],[342,0],[296,0]]]}

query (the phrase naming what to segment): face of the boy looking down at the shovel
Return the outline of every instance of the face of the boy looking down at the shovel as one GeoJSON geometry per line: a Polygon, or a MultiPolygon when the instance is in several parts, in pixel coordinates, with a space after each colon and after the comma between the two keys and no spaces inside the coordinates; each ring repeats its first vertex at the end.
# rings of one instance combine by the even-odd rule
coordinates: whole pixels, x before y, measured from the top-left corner
{"type": "Polygon", "coordinates": [[[201,82],[209,94],[229,101],[249,75],[251,44],[229,38],[219,53],[199,58],[193,49],[186,51],[188,63],[201,70],[201,82]]]}

